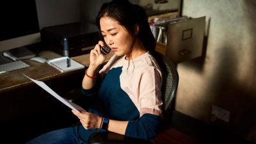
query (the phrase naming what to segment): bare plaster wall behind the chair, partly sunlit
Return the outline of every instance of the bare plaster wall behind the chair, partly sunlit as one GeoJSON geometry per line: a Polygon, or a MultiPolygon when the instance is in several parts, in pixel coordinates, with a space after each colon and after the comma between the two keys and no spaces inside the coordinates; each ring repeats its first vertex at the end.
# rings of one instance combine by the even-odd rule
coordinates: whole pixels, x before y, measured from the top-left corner
{"type": "Polygon", "coordinates": [[[255,13],[256,1],[183,1],[182,15],[206,16],[207,28],[203,56],[177,65],[175,109],[256,143],[255,13]],[[212,105],[228,122],[212,118],[212,105]]]}

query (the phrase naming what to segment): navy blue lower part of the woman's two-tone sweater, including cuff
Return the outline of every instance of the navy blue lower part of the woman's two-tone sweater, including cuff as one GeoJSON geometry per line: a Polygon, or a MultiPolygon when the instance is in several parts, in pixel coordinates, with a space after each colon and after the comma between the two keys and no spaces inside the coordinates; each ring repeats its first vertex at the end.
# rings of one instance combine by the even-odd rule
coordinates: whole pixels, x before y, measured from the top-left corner
{"type": "MultiPolygon", "coordinates": [[[[111,68],[102,83],[91,90],[83,89],[84,95],[96,98],[95,104],[88,112],[113,120],[128,120],[125,136],[144,140],[154,138],[161,117],[149,113],[140,117],[140,112],[132,100],[120,87],[121,73],[122,67],[111,68]]],[[[86,130],[82,125],[79,126],[79,136],[84,141],[88,141],[90,134],[96,131],[98,129],[86,130]]]]}

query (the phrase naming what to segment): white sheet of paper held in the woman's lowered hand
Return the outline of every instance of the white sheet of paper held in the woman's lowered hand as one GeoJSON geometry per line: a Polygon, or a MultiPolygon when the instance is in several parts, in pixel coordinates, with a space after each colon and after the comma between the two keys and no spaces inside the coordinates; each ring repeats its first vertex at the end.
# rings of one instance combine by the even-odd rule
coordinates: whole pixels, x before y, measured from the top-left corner
{"type": "MultiPolygon", "coordinates": [[[[24,75],[24,74],[23,74],[24,75]]],[[[26,75],[24,75],[26,76],[26,75]]],[[[26,76],[28,77],[28,76],[26,76]]],[[[33,81],[34,83],[38,84],[38,86],[40,86],[41,88],[43,88],[45,91],[49,92],[53,97],[55,97],[56,99],[60,100],[63,104],[65,104],[66,106],[68,106],[69,108],[77,111],[77,112],[81,112],[81,111],[85,111],[83,108],[81,108],[80,106],[78,106],[77,104],[74,104],[73,102],[68,101],[67,99],[64,99],[63,97],[61,97],[60,95],[58,95],[56,92],[54,92],[51,88],[49,88],[49,86],[47,86],[44,82],[42,81],[37,81],[35,79],[31,79],[30,77],[28,77],[28,79],[30,79],[31,81],[33,81]]]]}

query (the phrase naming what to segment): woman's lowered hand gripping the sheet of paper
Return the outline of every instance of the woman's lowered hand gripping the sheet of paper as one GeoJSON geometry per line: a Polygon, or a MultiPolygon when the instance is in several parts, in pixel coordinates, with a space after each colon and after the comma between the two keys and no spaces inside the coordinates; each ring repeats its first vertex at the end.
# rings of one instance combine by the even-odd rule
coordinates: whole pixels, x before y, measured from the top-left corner
{"type": "Polygon", "coordinates": [[[72,110],[72,113],[80,119],[81,124],[84,129],[100,129],[100,124],[102,122],[102,117],[94,115],[93,113],[88,113],[86,111],[82,111],[78,113],[72,110]]]}

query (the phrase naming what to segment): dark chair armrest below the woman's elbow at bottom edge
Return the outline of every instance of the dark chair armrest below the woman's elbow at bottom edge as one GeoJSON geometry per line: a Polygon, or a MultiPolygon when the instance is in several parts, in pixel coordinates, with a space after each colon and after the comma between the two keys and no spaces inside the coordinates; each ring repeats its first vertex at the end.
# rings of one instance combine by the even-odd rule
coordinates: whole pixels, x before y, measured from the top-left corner
{"type": "Polygon", "coordinates": [[[88,144],[152,144],[150,141],[131,138],[114,132],[95,132],[93,133],[88,144]]]}

